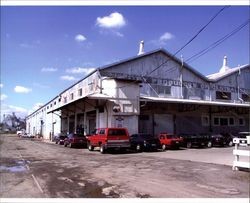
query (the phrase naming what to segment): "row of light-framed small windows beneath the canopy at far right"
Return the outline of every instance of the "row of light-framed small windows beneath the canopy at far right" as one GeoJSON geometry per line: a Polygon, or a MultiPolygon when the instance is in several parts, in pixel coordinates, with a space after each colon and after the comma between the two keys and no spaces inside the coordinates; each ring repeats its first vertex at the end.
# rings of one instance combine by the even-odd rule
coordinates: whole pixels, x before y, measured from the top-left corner
{"type": "MultiPolygon", "coordinates": [[[[209,117],[208,116],[202,116],[202,125],[203,126],[209,126],[209,117]]],[[[226,116],[215,116],[212,118],[212,124],[213,126],[245,126],[245,119],[244,118],[238,118],[235,119],[234,117],[226,117],[226,116]],[[236,123],[236,120],[238,122],[236,123]]]]}

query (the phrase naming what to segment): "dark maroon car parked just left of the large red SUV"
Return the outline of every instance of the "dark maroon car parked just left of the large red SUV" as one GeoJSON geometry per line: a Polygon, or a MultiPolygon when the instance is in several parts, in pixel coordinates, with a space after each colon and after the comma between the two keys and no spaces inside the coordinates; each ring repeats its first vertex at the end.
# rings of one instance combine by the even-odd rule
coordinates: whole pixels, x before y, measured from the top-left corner
{"type": "Polygon", "coordinates": [[[64,139],[64,147],[86,146],[87,139],[83,134],[70,133],[64,139]]]}

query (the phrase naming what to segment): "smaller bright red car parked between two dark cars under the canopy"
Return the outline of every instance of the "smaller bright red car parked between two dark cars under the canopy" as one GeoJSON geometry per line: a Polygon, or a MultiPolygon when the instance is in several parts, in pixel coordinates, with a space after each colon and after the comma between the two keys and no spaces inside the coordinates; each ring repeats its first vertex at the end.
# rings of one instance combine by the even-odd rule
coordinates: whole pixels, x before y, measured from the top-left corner
{"type": "Polygon", "coordinates": [[[179,148],[182,145],[183,139],[177,135],[172,135],[168,133],[160,133],[159,140],[161,148],[166,150],[166,148],[179,148]]]}

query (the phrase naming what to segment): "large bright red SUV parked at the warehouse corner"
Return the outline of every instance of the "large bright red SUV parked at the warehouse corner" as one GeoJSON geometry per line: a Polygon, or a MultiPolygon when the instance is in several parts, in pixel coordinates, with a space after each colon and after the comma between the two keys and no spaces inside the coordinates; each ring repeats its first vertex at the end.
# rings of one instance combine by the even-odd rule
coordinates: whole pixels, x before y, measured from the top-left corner
{"type": "Polygon", "coordinates": [[[95,147],[99,147],[101,153],[105,153],[107,149],[130,148],[126,128],[98,128],[94,134],[87,136],[87,140],[89,151],[93,151],[95,147]]]}

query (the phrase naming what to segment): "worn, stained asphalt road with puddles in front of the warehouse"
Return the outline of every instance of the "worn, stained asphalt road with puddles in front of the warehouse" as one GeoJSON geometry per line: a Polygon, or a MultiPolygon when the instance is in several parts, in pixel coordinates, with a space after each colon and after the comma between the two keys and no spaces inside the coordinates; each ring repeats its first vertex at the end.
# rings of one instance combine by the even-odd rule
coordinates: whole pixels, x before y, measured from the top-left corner
{"type": "Polygon", "coordinates": [[[2,198],[249,197],[249,172],[218,161],[233,148],[100,154],[16,135],[0,135],[0,148],[2,198]],[[219,163],[199,161],[210,154],[219,163]]]}

